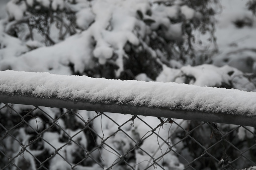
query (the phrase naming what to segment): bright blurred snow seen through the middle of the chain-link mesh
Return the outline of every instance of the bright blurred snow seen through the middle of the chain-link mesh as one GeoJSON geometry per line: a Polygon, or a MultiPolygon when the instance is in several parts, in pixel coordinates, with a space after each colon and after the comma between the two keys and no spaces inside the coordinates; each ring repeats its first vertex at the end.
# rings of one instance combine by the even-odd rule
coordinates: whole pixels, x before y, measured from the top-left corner
{"type": "MultiPolygon", "coordinates": [[[[91,113],[93,114],[93,113],[91,113]]],[[[101,126],[94,126],[95,131],[97,134],[102,136],[104,139],[106,139],[109,135],[115,134],[111,138],[108,138],[108,140],[105,141],[108,145],[110,145],[112,148],[115,148],[120,154],[127,152],[130,149],[130,146],[134,145],[134,141],[139,142],[141,141],[141,138],[143,139],[146,137],[145,134],[150,135],[149,132],[151,132],[151,127],[155,127],[158,122],[155,120],[155,117],[140,117],[143,121],[147,122],[147,125],[144,124],[144,122],[140,121],[139,119],[135,119],[133,127],[130,125],[130,123],[125,122],[131,118],[131,115],[122,115],[122,114],[117,114],[113,116],[111,113],[105,113],[108,116],[112,118],[109,119],[106,116],[102,116],[101,119],[95,119],[94,124],[101,124],[101,126]],[[113,121],[114,120],[114,121],[113,121]],[[131,140],[130,137],[125,135],[122,131],[119,131],[116,133],[117,128],[119,127],[118,124],[122,124],[122,131],[124,131],[126,134],[128,134],[133,140],[131,140]],[[123,124],[124,123],[124,124],[123,124]],[[103,136],[104,134],[104,136],[103,136]]],[[[92,118],[94,117],[93,115],[91,116],[92,118]]],[[[177,123],[180,124],[183,128],[188,127],[188,123],[181,123],[183,120],[176,120],[177,123]]],[[[166,133],[165,130],[160,129],[158,132],[158,135],[160,135],[162,138],[167,139],[168,135],[174,134],[174,131],[176,132],[181,132],[181,128],[177,128],[177,124],[170,124],[166,123],[163,125],[164,129],[170,129],[169,133],[166,133]]],[[[102,140],[100,138],[97,138],[97,144],[101,144],[102,140]]],[[[154,155],[153,157],[158,157],[160,156],[161,150],[159,149],[159,145],[162,144],[163,141],[157,140],[157,137],[154,135],[151,135],[147,137],[147,140],[143,140],[143,142],[140,144],[140,148],[142,148],[144,151],[149,153],[150,155],[154,155]]],[[[120,156],[111,154],[108,150],[111,150],[108,146],[104,146],[106,149],[101,150],[101,156],[104,159],[104,165],[106,166],[111,166],[112,162],[118,159],[120,156]]],[[[161,146],[162,150],[167,150],[167,145],[161,146]]],[[[129,162],[131,165],[136,165],[136,169],[144,169],[147,167],[148,161],[152,161],[151,157],[148,156],[145,152],[143,152],[140,149],[135,149],[136,153],[136,162],[134,164],[131,164],[133,162],[129,162]]],[[[178,158],[173,152],[168,152],[164,156],[164,161],[159,161],[161,165],[164,164],[166,169],[184,169],[184,165],[179,162],[178,158]],[[166,156],[166,157],[165,157],[166,156]],[[170,161],[171,160],[171,161],[170,161]]],[[[154,169],[153,167],[150,167],[149,169],[154,169]]]]}

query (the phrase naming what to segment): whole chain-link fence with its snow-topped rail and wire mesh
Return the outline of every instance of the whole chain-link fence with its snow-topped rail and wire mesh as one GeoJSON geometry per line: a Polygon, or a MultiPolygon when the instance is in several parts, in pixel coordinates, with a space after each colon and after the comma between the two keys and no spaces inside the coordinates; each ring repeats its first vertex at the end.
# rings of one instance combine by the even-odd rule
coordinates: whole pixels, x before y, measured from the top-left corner
{"type": "Polygon", "coordinates": [[[2,71],[0,168],[255,166],[255,103],[233,89],[2,71]]]}

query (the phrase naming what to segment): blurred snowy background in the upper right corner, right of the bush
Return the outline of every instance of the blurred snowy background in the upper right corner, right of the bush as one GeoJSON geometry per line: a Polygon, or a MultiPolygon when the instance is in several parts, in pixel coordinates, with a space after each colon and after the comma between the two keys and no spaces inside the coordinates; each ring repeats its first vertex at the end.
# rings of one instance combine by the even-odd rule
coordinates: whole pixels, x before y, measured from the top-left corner
{"type": "MultiPolygon", "coordinates": [[[[219,53],[214,55],[213,64],[219,67],[229,65],[245,73],[255,73],[256,18],[246,9],[246,3],[247,1],[220,1],[222,11],[216,15],[215,32],[219,53]],[[247,25],[237,28],[234,24],[236,21],[243,21],[247,25]]],[[[204,36],[201,40],[207,42],[204,36]]]]}

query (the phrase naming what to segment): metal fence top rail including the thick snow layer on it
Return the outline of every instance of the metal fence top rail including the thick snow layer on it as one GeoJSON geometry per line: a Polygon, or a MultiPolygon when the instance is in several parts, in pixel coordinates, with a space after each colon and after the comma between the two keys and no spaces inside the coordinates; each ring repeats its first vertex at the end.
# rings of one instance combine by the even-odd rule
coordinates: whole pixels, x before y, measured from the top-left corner
{"type": "Polygon", "coordinates": [[[11,70],[0,71],[0,102],[251,126],[256,120],[255,92],[11,70]]]}

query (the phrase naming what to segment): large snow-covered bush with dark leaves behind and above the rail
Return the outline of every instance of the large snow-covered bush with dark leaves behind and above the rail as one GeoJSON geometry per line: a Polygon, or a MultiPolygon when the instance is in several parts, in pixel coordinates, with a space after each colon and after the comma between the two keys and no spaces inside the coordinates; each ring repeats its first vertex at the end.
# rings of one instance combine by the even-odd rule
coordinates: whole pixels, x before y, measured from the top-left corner
{"type": "Polygon", "coordinates": [[[163,63],[197,62],[194,31],[213,32],[210,3],[12,0],[2,34],[26,50],[5,57],[0,69],[154,80],[163,63]]]}

